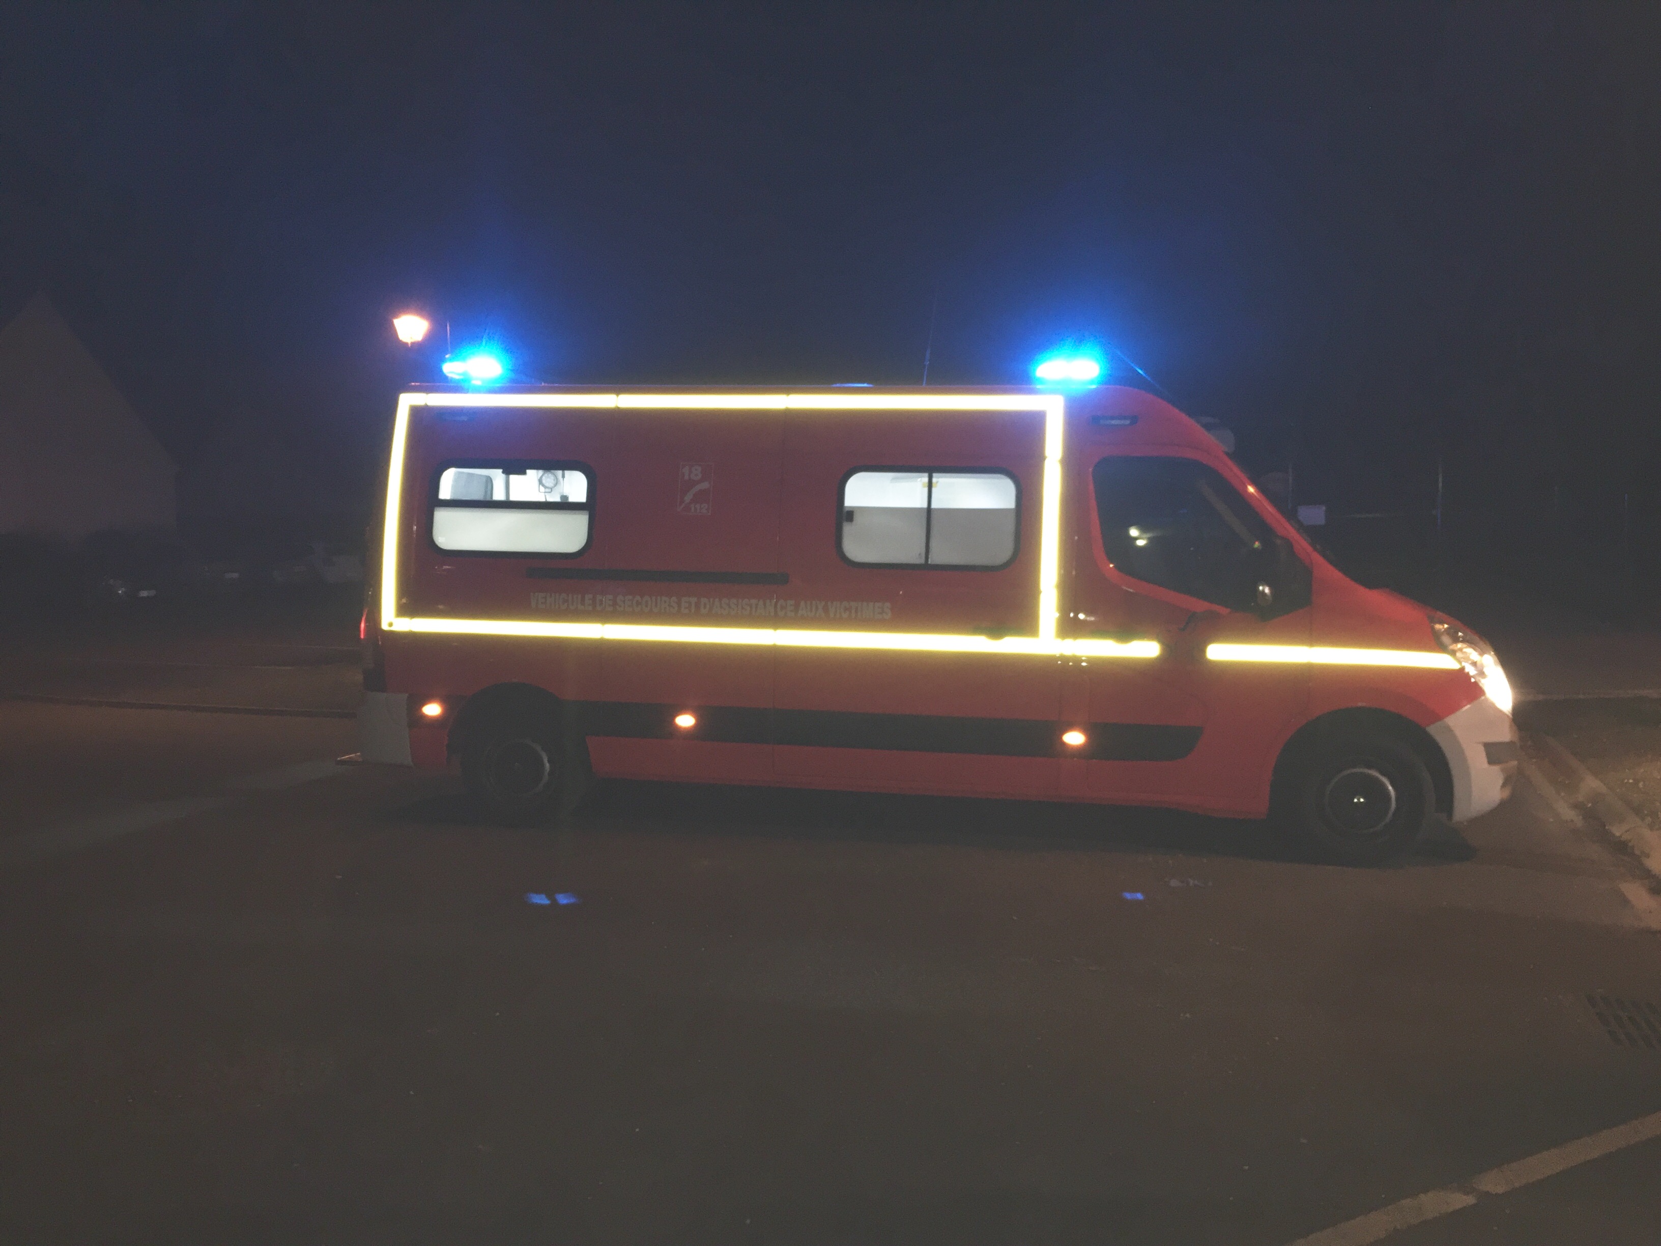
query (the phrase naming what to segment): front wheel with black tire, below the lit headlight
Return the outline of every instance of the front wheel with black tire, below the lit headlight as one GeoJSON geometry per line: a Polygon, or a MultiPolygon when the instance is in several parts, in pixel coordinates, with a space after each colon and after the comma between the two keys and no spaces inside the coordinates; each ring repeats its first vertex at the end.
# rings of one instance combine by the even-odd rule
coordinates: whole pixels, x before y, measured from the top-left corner
{"type": "Polygon", "coordinates": [[[1425,763],[1400,739],[1374,731],[1316,741],[1276,796],[1282,827],[1334,866],[1380,866],[1400,856],[1435,809],[1425,763]]]}

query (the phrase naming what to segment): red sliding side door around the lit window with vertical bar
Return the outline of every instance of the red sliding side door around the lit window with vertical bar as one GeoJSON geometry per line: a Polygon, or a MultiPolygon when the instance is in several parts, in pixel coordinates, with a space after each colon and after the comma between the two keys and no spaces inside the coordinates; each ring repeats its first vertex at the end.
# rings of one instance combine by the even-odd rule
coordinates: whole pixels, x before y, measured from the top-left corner
{"type": "MultiPolygon", "coordinates": [[[[1033,635],[1043,427],[1033,412],[792,414],[784,437],[781,628],[907,636],[1033,635]],[[998,468],[1018,485],[1018,548],[1000,570],[869,567],[839,552],[842,483],[872,467],[998,468]]],[[[786,782],[1055,791],[1053,656],[777,648],[774,766],[786,782]]]]}

